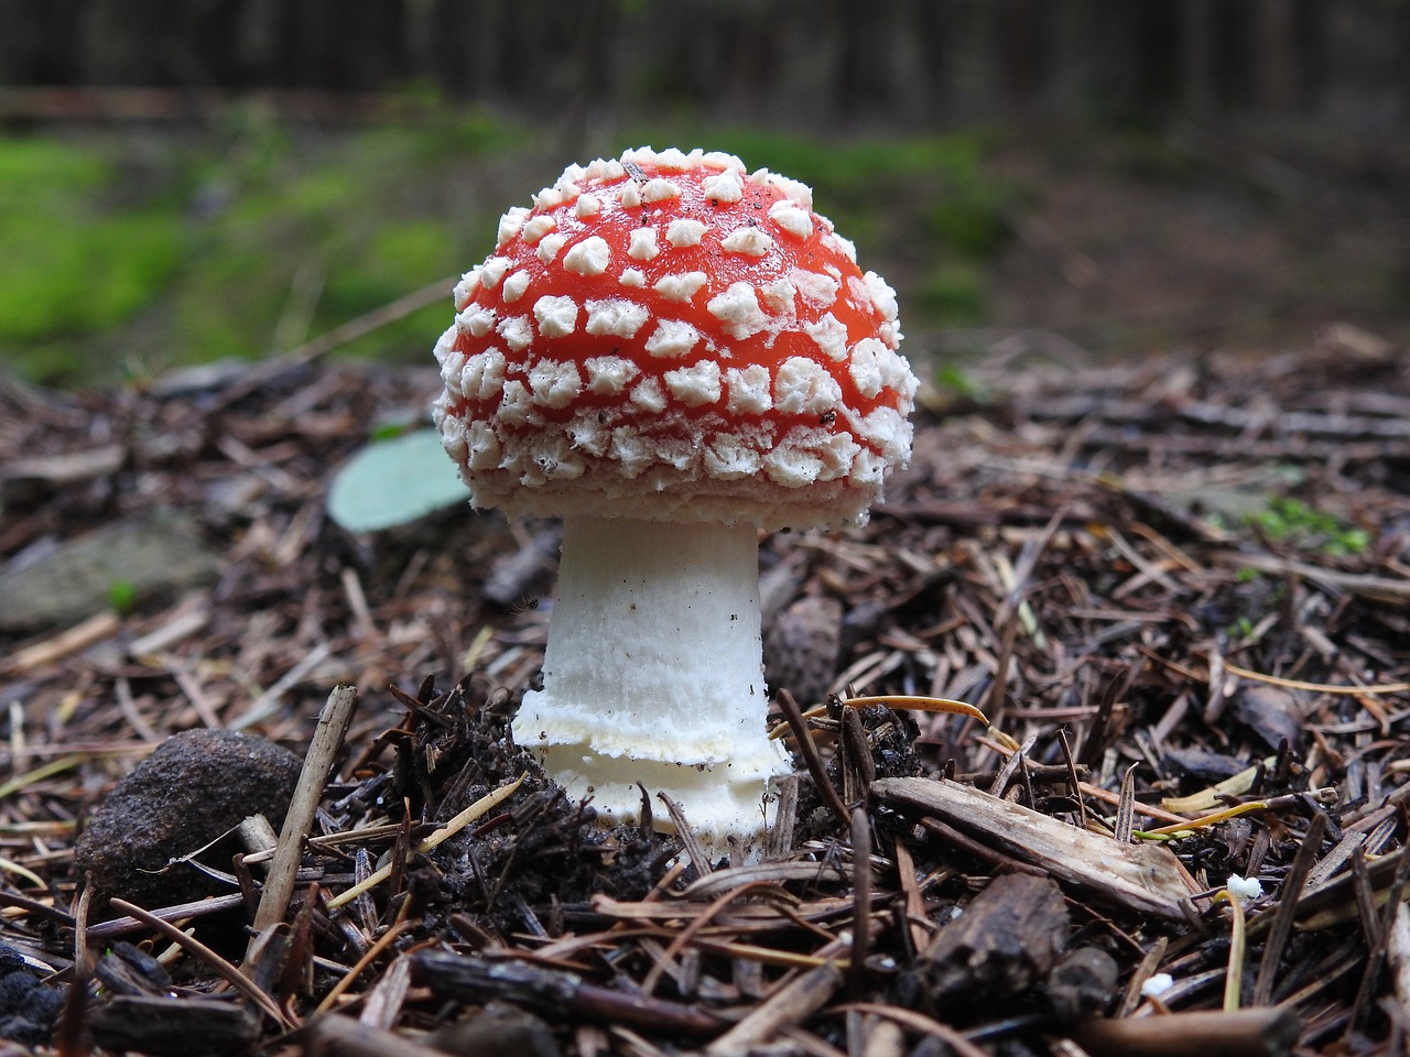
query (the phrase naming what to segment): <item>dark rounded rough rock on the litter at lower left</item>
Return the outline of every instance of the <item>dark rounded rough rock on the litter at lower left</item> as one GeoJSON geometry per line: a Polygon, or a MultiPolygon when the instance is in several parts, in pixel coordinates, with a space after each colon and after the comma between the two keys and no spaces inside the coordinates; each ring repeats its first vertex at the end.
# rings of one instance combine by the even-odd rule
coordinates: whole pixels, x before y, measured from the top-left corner
{"type": "MultiPolygon", "coordinates": [[[[303,764],[254,734],[186,730],[166,738],[120,781],[87,820],[75,847],[79,868],[100,895],[166,906],[227,891],[186,865],[168,867],[250,815],[278,829],[303,764]]],[[[233,844],[203,854],[230,870],[233,844]]]]}

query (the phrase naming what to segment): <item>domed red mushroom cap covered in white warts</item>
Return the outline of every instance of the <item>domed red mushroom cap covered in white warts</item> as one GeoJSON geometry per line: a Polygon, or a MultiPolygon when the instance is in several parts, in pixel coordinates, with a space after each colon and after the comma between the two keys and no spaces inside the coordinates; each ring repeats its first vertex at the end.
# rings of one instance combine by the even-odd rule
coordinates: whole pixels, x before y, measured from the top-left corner
{"type": "Polygon", "coordinates": [[[730,155],[570,166],[455,309],[434,416],[477,506],[854,523],[909,457],[894,292],[805,185],[730,155]]]}

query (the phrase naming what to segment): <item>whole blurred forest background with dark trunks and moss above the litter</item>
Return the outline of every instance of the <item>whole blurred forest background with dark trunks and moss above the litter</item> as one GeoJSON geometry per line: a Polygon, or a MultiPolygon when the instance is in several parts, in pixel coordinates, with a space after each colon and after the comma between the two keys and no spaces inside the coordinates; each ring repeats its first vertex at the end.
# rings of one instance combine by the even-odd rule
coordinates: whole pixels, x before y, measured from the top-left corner
{"type": "Polygon", "coordinates": [[[812,183],[912,355],[1403,345],[1407,117],[1406,0],[0,0],[0,358],[429,362],[503,209],[642,144],[812,183]]]}

